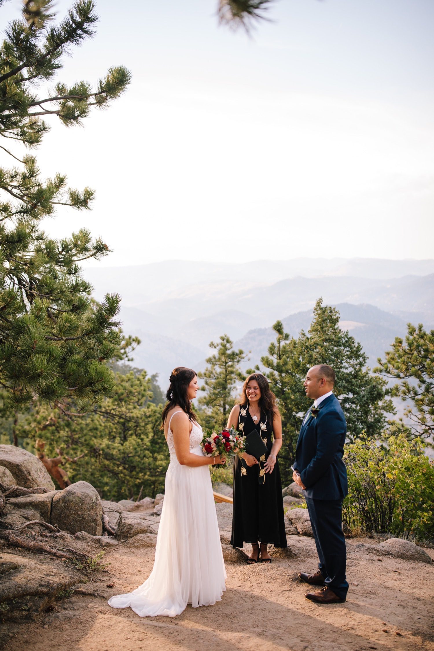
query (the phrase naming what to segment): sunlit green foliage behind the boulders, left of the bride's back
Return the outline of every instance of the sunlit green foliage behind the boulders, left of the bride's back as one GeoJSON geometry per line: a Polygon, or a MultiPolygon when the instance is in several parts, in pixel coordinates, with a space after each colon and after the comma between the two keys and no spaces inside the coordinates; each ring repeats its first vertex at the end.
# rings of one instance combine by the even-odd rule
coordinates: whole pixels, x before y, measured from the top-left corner
{"type": "Polygon", "coordinates": [[[36,404],[18,423],[24,447],[35,452],[36,439],[46,443],[48,457],[57,449],[69,457],[84,454],[63,466],[73,482],[91,483],[103,499],[153,497],[164,491],[169,452],[160,430],[162,406],[150,400],[151,378],[115,373],[113,395],[93,411],[70,419],[58,410],[36,404]]]}

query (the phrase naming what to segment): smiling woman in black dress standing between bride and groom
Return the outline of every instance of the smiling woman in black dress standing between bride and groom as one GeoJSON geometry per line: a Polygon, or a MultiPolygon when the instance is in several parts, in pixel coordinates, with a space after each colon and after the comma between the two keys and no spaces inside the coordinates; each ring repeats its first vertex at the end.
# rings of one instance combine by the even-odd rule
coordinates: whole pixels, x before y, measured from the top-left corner
{"type": "Polygon", "coordinates": [[[246,452],[234,460],[233,547],[252,545],[248,564],[270,563],[268,545],[286,547],[282,482],[277,455],[282,447],[282,419],[276,396],[261,373],[248,376],[227,421],[246,436],[246,452]]]}

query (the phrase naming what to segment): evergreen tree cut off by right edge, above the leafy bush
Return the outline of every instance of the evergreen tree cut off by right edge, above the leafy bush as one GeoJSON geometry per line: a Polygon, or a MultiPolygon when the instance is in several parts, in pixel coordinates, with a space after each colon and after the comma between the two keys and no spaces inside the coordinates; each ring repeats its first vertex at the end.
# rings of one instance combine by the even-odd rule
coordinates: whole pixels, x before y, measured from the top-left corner
{"type": "Polygon", "coordinates": [[[399,380],[390,390],[392,396],[409,404],[405,420],[392,422],[392,432],[404,430],[412,438],[420,436],[433,445],[434,434],[434,330],[427,332],[419,324],[407,325],[405,342],[396,337],[392,350],[379,357],[375,372],[384,378],[399,380]]]}

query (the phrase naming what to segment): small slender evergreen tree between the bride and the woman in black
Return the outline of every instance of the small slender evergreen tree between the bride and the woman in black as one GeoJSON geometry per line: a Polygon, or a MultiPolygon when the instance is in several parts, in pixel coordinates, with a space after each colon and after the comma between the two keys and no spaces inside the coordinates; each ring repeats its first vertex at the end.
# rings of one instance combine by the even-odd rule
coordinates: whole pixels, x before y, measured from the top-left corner
{"type": "Polygon", "coordinates": [[[220,337],[220,342],[210,342],[210,348],[216,350],[215,355],[208,357],[207,368],[199,373],[205,385],[205,396],[199,398],[199,405],[205,405],[203,418],[207,427],[222,429],[227,424],[227,417],[235,400],[233,392],[237,380],[245,380],[239,365],[246,357],[244,352],[233,349],[233,342],[227,335],[220,337]]]}

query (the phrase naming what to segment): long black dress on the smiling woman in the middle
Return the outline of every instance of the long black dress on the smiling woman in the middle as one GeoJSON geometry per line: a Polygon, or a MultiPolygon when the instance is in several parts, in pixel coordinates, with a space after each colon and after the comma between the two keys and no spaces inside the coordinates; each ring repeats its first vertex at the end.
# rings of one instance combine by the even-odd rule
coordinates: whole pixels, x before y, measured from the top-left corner
{"type": "MultiPolygon", "coordinates": [[[[237,429],[247,436],[257,430],[267,445],[272,447],[272,421],[261,411],[259,424],[253,422],[248,405],[240,406],[237,429]]],[[[242,547],[243,542],[273,544],[286,547],[283,516],[282,482],[276,461],[272,473],[264,472],[264,461],[245,468],[236,456],[233,464],[233,512],[231,545],[242,547]]]]}

